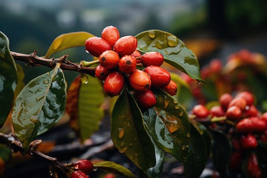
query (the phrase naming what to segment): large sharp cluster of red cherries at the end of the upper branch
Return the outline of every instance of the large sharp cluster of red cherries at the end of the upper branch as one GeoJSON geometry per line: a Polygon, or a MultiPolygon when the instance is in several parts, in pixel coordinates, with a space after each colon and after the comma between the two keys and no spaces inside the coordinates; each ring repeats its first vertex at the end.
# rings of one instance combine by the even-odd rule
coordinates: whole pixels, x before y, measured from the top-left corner
{"type": "Polygon", "coordinates": [[[95,76],[104,81],[104,92],[113,97],[127,85],[129,91],[135,91],[139,106],[150,108],[156,104],[156,97],[150,90],[152,86],[175,95],[177,85],[171,80],[170,73],[160,67],[164,62],[161,53],[141,54],[136,49],[137,39],[134,36],[120,37],[114,26],[106,26],[101,38],[92,37],[85,41],[85,50],[99,57],[95,76]]]}

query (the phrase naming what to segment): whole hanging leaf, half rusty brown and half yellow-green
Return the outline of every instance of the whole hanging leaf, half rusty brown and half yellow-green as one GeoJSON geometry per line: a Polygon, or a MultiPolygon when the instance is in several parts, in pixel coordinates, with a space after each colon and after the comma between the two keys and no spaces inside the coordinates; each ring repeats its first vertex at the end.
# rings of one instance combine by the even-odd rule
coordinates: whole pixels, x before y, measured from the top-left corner
{"type": "Polygon", "coordinates": [[[66,112],[70,114],[70,127],[81,141],[99,129],[99,122],[104,117],[102,104],[105,100],[103,87],[99,79],[86,76],[88,84],[81,82],[77,76],[67,93],[66,112]]]}

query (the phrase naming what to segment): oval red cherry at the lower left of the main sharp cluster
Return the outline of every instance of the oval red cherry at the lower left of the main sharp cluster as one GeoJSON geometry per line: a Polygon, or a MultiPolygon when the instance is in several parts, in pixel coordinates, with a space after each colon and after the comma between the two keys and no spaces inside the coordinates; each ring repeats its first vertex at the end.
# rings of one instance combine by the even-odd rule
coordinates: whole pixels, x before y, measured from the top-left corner
{"type": "Polygon", "coordinates": [[[120,72],[113,71],[108,74],[104,81],[104,92],[107,95],[114,97],[122,92],[124,83],[125,81],[123,74],[120,72]]]}

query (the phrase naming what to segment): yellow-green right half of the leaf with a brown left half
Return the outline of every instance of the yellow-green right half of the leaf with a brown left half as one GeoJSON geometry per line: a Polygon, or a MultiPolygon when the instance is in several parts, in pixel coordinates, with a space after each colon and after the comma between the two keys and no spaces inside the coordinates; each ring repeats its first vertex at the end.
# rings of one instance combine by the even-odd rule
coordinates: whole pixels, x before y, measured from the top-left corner
{"type": "Polygon", "coordinates": [[[82,141],[90,138],[99,129],[99,122],[104,117],[103,87],[99,79],[86,76],[88,83],[81,83],[78,98],[78,124],[82,141]]]}

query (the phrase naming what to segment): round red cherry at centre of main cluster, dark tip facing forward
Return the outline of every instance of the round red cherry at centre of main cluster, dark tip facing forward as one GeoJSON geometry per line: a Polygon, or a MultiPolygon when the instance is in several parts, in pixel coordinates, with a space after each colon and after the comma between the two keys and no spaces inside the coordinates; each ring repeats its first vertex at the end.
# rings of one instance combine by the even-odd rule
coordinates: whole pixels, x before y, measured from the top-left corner
{"type": "Polygon", "coordinates": [[[118,62],[118,69],[122,73],[132,73],[136,68],[136,60],[131,55],[125,55],[121,58],[121,60],[118,62]]]}

